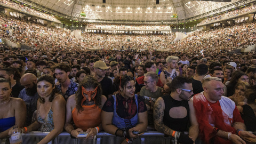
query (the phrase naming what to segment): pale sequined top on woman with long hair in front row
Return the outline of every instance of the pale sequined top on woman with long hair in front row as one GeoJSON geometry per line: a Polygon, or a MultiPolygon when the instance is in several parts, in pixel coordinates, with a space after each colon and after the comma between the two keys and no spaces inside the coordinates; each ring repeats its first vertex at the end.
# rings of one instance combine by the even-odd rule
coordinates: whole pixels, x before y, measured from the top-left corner
{"type": "MultiPolygon", "coordinates": [[[[40,106],[41,106],[41,103],[39,104],[39,109],[40,109],[40,106]]],[[[38,116],[37,116],[37,121],[41,124],[39,131],[47,131],[47,132],[52,131],[54,129],[52,108],[50,109],[49,113],[45,116],[44,119],[40,116],[39,109],[38,109],[38,116]]]]}

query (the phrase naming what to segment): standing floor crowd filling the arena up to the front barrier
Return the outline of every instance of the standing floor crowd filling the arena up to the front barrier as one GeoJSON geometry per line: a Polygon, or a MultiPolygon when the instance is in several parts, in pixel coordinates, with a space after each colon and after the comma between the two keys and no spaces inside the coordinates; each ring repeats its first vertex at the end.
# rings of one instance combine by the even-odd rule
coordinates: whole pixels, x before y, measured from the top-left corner
{"type": "Polygon", "coordinates": [[[122,143],[146,131],[174,143],[255,140],[255,53],[204,53],[2,50],[0,138],[19,126],[49,131],[39,143],[62,131],[122,143]]]}

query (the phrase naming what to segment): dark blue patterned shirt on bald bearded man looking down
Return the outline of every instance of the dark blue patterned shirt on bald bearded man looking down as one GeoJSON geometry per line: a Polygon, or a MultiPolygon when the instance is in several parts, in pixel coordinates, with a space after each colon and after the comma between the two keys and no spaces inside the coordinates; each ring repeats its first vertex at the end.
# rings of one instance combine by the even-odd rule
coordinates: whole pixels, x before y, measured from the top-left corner
{"type": "Polygon", "coordinates": [[[26,124],[25,126],[29,126],[31,124],[31,120],[33,117],[33,113],[37,108],[37,99],[39,98],[38,93],[36,93],[33,96],[29,96],[26,93],[26,89],[20,91],[19,97],[23,101],[25,101],[26,107],[27,107],[27,117],[26,117],[26,124]]]}

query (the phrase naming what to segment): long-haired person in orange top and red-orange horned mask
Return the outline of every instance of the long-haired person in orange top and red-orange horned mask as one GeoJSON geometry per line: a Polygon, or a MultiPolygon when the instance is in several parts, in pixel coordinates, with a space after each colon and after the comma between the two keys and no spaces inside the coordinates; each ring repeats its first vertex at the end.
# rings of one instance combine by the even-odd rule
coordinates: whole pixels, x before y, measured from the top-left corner
{"type": "Polygon", "coordinates": [[[93,138],[102,130],[101,108],[106,100],[107,98],[102,95],[100,83],[90,75],[85,76],[76,94],[67,100],[65,130],[75,138],[93,138]]]}

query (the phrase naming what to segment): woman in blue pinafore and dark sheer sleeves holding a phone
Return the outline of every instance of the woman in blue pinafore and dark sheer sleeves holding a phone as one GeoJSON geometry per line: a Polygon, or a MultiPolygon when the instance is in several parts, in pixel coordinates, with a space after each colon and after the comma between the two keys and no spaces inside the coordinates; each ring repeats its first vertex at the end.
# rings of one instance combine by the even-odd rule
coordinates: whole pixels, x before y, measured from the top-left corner
{"type": "Polygon", "coordinates": [[[119,84],[119,93],[108,98],[103,106],[102,127],[110,134],[124,137],[122,143],[130,143],[147,129],[147,107],[143,97],[134,94],[135,83],[132,77],[118,77],[115,83],[119,84]]]}

